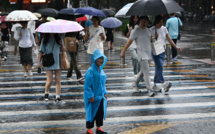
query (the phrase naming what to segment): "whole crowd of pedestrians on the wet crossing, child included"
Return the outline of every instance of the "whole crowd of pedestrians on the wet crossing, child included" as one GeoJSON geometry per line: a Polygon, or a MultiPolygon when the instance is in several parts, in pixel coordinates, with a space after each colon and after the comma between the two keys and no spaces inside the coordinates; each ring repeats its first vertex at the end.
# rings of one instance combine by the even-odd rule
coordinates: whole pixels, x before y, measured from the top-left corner
{"type": "MultiPolygon", "coordinates": [[[[76,18],[70,18],[71,21],[76,21],[76,18]]],[[[108,51],[114,51],[114,28],[104,28],[99,25],[100,18],[97,16],[92,17],[92,21],[87,21],[85,29],[82,32],[86,32],[85,41],[87,42],[87,54],[89,55],[90,68],[86,74],[81,74],[81,71],[77,65],[77,52],[68,52],[70,55],[70,68],[67,70],[67,78],[71,78],[73,70],[75,70],[77,80],[84,80],[84,102],[86,109],[86,128],[87,133],[92,133],[94,127],[94,121],[96,121],[97,132],[106,133],[101,129],[103,125],[103,119],[106,116],[107,109],[107,90],[105,87],[107,76],[105,75],[103,68],[107,62],[107,57],[104,55],[104,42],[107,42],[108,51]]],[[[163,26],[164,18],[162,16],[156,16],[154,25],[149,28],[148,16],[131,16],[129,24],[126,25],[124,35],[128,38],[127,43],[120,57],[125,56],[127,49],[130,51],[133,72],[135,82],[132,84],[137,92],[139,92],[138,83],[144,78],[146,89],[150,97],[155,96],[155,92],[164,89],[168,92],[171,83],[165,82],[163,76],[163,64],[166,58],[166,53],[163,52],[159,55],[152,53],[151,44],[154,40],[161,40],[163,47],[165,48],[165,41],[167,40],[172,46],[172,59],[173,62],[177,61],[177,51],[182,50],[176,46],[177,39],[179,39],[179,29],[182,26],[180,19],[174,17],[174,14],[170,15],[170,19],[167,20],[166,27],[163,26]],[[150,63],[153,59],[155,63],[155,75],[154,84],[150,79],[150,63]]],[[[65,51],[64,37],[75,38],[75,44],[78,48],[78,40],[80,32],[65,33],[63,35],[55,33],[39,33],[35,32],[35,28],[43,23],[47,22],[47,16],[42,16],[42,20],[34,21],[21,21],[13,25],[12,29],[1,23],[1,41],[3,42],[0,47],[0,66],[2,61],[7,60],[10,34],[15,39],[14,55],[19,51],[20,64],[23,66],[24,77],[32,76],[32,50],[35,47],[35,52],[38,54],[38,68],[46,71],[46,84],[44,100],[49,100],[49,90],[55,78],[56,84],[56,102],[61,102],[61,66],[60,66],[60,52],[65,51]],[[48,67],[42,65],[42,57],[44,54],[53,53],[54,64],[48,67]],[[55,77],[53,77],[53,74],[55,77]]]]}

